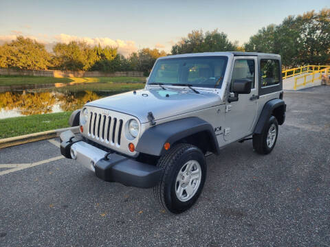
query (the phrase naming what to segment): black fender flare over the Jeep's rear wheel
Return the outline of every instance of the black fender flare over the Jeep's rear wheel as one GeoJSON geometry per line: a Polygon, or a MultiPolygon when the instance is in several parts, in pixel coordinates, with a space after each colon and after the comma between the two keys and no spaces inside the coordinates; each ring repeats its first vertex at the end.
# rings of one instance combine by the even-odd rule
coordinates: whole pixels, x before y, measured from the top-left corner
{"type": "Polygon", "coordinates": [[[278,124],[283,124],[284,118],[285,118],[285,110],[286,110],[286,104],[282,99],[271,99],[269,102],[263,106],[263,110],[261,111],[261,115],[259,116],[259,120],[256,123],[256,127],[254,128],[254,134],[261,134],[263,132],[263,128],[265,127],[265,124],[267,123],[268,119],[270,119],[270,115],[272,115],[273,111],[278,108],[283,108],[283,120],[279,122],[278,124]]]}

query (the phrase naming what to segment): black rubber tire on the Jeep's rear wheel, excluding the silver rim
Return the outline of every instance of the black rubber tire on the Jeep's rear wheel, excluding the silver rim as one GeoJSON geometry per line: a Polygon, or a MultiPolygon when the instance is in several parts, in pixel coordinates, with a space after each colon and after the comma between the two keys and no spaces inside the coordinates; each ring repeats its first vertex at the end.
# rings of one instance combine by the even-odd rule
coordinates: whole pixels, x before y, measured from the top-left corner
{"type": "Polygon", "coordinates": [[[277,137],[278,137],[278,122],[276,117],[271,116],[270,119],[267,121],[265,128],[263,128],[263,132],[261,134],[253,135],[252,140],[253,140],[254,150],[256,150],[256,152],[258,152],[259,154],[269,154],[270,152],[272,152],[273,148],[276,145],[277,137]],[[271,126],[273,126],[273,124],[276,127],[276,137],[272,146],[269,147],[267,145],[267,134],[271,126]]]}

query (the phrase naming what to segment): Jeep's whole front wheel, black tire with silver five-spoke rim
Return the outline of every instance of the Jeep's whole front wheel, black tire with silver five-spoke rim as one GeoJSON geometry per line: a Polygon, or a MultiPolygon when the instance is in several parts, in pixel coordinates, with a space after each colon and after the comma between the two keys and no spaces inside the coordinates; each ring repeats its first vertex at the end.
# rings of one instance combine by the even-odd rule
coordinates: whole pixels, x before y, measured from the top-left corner
{"type": "Polygon", "coordinates": [[[172,213],[186,211],[198,199],[206,179],[206,161],[199,148],[179,143],[157,164],[164,168],[159,185],[154,188],[155,198],[172,213]]]}

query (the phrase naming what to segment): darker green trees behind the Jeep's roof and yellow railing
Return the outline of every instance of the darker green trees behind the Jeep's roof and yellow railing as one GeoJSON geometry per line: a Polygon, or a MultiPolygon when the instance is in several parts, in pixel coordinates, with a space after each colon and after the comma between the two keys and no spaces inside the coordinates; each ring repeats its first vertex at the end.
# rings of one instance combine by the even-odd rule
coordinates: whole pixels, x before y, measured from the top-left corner
{"type": "Polygon", "coordinates": [[[283,67],[330,64],[330,8],[303,15],[288,16],[279,25],[268,25],[250,37],[242,47],[227,35],[192,31],[172,47],[172,54],[205,51],[254,51],[280,54],[283,67]]]}

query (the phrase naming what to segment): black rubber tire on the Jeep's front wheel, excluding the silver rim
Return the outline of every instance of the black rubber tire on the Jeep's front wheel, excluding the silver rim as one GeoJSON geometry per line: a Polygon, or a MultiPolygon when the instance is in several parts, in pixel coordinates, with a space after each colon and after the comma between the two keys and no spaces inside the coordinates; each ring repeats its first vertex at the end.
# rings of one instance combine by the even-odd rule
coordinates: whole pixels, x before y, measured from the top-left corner
{"type": "Polygon", "coordinates": [[[157,166],[164,169],[162,180],[153,189],[155,199],[159,204],[171,213],[182,213],[192,207],[199,198],[206,180],[206,161],[203,152],[194,145],[179,143],[173,146],[167,154],[159,158],[157,166]],[[184,165],[188,161],[197,161],[199,163],[201,178],[199,180],[199,187],[196,187],[195,194],[193,194],[192,198],[183,202],[177,197],[175,188],[178,183],[177,176],[179,172],[182,172],[181,169],[184,169],[184,165]]]}

